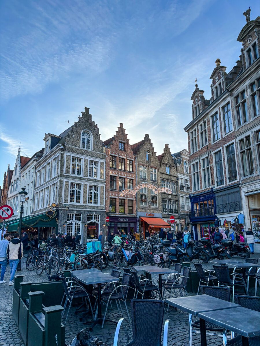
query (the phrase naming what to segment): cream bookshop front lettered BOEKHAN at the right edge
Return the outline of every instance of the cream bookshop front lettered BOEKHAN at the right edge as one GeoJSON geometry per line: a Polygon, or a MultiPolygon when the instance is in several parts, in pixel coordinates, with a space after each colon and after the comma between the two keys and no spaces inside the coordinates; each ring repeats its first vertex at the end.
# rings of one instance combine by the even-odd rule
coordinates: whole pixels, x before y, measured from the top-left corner
{"type": "Polygon", "coordinates": [[[243,186],[241,194],[246,215],[245,229],[250,227],[254,232],[254,251],[260,253],[260,182],[243,186]]]}

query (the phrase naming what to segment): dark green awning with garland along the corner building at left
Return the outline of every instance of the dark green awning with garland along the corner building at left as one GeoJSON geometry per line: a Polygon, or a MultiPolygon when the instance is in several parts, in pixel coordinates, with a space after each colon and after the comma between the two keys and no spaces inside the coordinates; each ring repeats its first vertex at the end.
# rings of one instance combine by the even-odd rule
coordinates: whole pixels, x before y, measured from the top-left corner
{"type": "MultiPolygon", "coordinates": [[[[53,216],[49,217],[44,214],[35,215],[35,216],[27,216],[23,218],[22,221],[22,228],[24,227],[57,227],[58,222],[56,218],[58,217],[58,213],[55,212],[53,216]]],[[[5,228],[7,229],[7,232],[15,232],[19,229],[19,219],[11,220],[8,222],[5,222],[5,228]]],[[[2,222],[0,224],[0,229],[2,228],[2,222]]]]}

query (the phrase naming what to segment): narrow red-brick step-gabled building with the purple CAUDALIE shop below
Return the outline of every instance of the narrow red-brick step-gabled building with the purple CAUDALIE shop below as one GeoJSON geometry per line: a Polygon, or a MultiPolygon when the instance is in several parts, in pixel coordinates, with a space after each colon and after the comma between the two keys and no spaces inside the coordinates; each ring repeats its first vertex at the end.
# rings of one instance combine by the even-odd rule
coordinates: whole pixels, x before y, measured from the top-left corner
{"type": "Polygon", "coordinates": [[[106,212],[110,215],[108,234],[125,231],[133,234],[137,229],[136,196],[123,190],[136,186],[135,156],[129,139],[120,123],[116,135],[104,141],[106,146],[106,212]]]}

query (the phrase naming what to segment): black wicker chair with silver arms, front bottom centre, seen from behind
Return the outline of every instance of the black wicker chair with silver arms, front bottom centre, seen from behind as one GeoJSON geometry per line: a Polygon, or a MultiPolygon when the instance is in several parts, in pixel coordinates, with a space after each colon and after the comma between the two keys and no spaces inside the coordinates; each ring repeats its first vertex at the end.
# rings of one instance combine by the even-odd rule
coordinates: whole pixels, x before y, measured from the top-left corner
{"type": "MultiPolygon", "coordinates": [[[[161,335],[164,316],[164,301],[153,299],[131,299],[131,315],[133,338],[129,342],[123,318],[118,321],[115,330],[113,346],[118,345],[118,336],[121,325],[127,335],[127,344],[124,346],[162,346],[161,335]],[[156,316],[156,318],[155,318],[156,316]],[[146,321],[145,328],[143,322],[146,321]]],[[[163,346],[167,346],[168,323],[164,323],[163,346]]]]}

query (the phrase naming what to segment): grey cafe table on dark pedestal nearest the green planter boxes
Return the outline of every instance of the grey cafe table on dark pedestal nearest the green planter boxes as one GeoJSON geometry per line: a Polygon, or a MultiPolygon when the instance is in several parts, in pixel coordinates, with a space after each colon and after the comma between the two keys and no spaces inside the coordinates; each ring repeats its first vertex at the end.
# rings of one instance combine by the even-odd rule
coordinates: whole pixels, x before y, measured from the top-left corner
{"type": "MultiPolygon", "coordinates": [[[[92,269],[83,269],[83,270],[74,270],[71,272],[71,275],[75,277],[78,281],[85,285],[97,285],[97,318],[93,321],[92,328],[98,324],[102,323],[102,309],[101,309],[101,284],[108,283],[112,281],[119,281],[120,279],[115,276],[107,275],[102,273],[100,270],[92,269]]],[[[111,319],[105,319],[105,321],[115,322],[117,321],[111,319]]],[[[87,323],[92,321],[87,321],[87,323]]]]}

